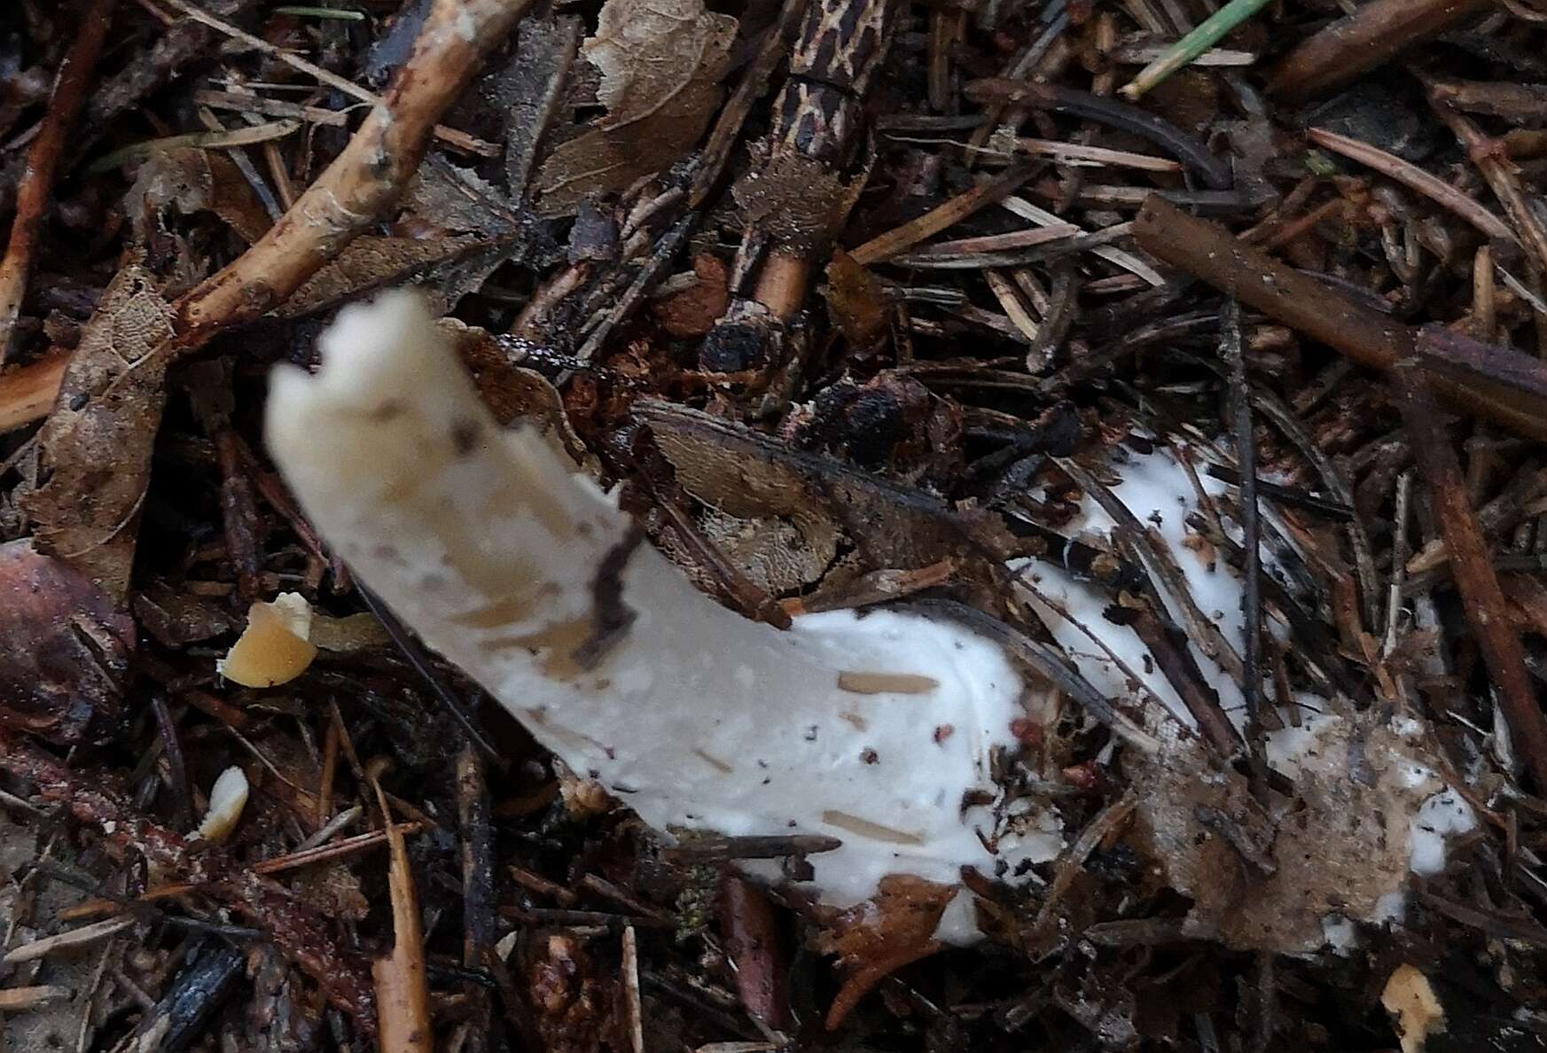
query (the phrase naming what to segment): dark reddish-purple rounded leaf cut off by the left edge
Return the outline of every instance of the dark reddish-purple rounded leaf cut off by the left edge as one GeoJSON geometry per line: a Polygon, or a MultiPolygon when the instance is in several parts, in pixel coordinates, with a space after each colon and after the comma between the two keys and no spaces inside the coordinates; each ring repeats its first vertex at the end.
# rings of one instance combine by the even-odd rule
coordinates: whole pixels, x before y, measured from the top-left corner
{"type": "Polygon", "coordinates": [[[0,544],[0,724],[79,742],[122,710],[135,622],[26,538],[0,544]]]}

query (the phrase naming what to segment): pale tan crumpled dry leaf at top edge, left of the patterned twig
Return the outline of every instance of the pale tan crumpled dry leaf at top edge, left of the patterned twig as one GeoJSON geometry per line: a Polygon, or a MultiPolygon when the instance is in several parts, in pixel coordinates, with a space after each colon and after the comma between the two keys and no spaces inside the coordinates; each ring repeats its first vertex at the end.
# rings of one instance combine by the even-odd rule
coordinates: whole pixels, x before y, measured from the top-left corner
{"type": "Polygon", "coordinates": [[[693,80],[715,82],[736,37],[736,20],[704,0],[606,0],[582,54],[602,71],[599,128],[620,128],[665,111],[693,80]]]}

